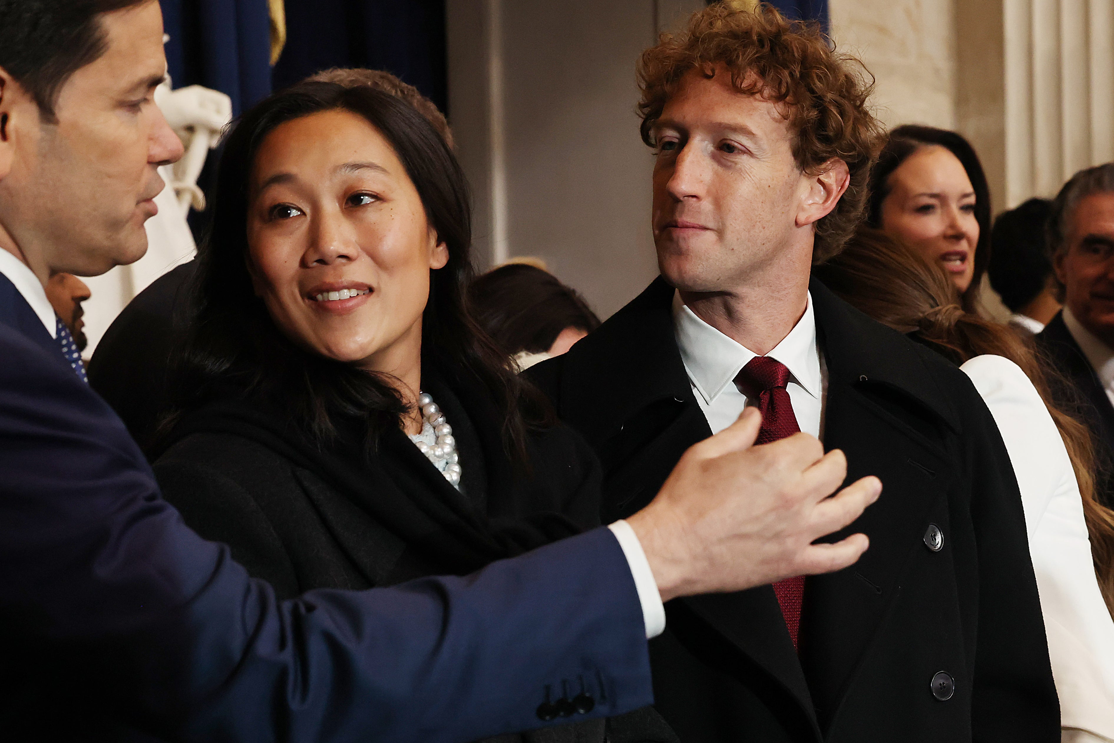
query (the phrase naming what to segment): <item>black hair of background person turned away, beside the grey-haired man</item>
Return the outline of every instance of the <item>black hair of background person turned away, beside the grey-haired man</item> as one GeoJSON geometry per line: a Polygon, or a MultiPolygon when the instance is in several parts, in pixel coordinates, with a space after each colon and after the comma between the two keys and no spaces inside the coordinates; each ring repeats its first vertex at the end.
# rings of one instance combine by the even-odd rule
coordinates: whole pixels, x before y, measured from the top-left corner
{"type": "Polygon", "coordinates": [[[1018,312],[1037,297],[1052,274],[1045,225],[1052,214],[1052,201],[1030,198],[1003,212],[994,221],[990,242],[994,253],[986,273],[990,286],[1012,312],[1018,312]]]}

